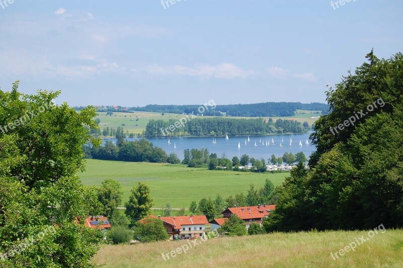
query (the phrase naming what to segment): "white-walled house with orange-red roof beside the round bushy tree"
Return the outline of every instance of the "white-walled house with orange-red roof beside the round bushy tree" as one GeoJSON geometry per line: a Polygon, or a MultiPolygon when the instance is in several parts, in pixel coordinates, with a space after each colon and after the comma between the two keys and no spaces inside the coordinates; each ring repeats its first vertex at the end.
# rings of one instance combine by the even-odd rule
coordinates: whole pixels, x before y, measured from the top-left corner
{"type": "Polygon", "coordinates": [[[177,216],[161,217],[158,219],[164,222],[164,227],[173,239],[194,239],[206,235],[206,225],[209,224],[206,216],[177,216]]]}

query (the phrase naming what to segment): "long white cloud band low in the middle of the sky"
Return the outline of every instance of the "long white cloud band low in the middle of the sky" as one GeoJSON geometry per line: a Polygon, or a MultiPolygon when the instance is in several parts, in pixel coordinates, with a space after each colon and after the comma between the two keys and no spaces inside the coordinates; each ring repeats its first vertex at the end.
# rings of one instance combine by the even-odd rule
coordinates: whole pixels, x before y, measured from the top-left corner
{"type": "Polygon", "coordinates": [[[232,63],[221,63],[218,65],[197,65],[194,68],[183,65],[160,66],[156,64],[148,65],[142,69],[133,69],[134,72],[146,72],[155,75],[180,75],[195,76],[200,78],[220,78],[220,79],[245,79],[250,76],[257,75],[256,72],[248,70],[244,71],[237,65],[232,63]]]}

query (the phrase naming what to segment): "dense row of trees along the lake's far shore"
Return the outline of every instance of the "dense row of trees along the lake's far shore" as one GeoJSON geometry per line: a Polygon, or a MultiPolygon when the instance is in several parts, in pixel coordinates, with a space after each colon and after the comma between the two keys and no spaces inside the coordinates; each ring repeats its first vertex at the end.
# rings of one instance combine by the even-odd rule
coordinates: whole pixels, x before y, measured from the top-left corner
{"type": "Polygon", "coordinates": [[[147,123],[145,137],[219,137],[219,136],[246,136],[266,135],[271,133],[306,133],[310,126],[308,122],[301,124],[295,120],[272,118],[236,119],[236,118],[194,118],[178,123],[178,120],[150,120],[147,123]]]}

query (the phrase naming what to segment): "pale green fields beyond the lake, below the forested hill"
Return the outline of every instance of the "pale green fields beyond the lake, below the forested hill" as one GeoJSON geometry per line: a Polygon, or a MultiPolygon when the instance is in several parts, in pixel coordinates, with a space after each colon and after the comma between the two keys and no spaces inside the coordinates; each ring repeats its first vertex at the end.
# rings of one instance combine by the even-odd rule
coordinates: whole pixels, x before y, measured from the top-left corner
{"type": "MultiPolygon", "coordinates": [[[[320,115],[320,111],[308,111],[308,110],[297,110],[294,116],[283,116],[283,117],[272,117],[273,120],[281,119],[294,119],[296,121],[300,121],[303,123],[307,121],[309,125],[312,125],[320,115]]],[[[151,120],[164,120],[168,121],[169,119],[179,120],[182,118],[183,115],[178,115],[174,113],[166,113],[165,115],[161,115],[161,113],[153,113],[153,112],[134,112],[134,113],[122,113],[122,112],[114,112],[112,116],[106,116],[106,112],[98,112],[98,116],[95,118],[99,118],[101,122],[99,123],[99,127],[101,131],[109,126],[113,128],[117,128],[118,126],[123,126],[124,131],[128,130],[129,133],[142,133],[143,130],[146,130],[147,123],[151,120]],[[136,121],[137,117],[139,121],[136,121]]],[[[201,118],[201,116],[198,116],[201,118]]],[[[214,116],[204,116],[203,118],[210,118],[214,116]]],[[[224,118],[256,118],[256,117],[224,117],[224,118]]],[[[268,120],[269,117],[263,117],[264,119],[268,120]]]]}

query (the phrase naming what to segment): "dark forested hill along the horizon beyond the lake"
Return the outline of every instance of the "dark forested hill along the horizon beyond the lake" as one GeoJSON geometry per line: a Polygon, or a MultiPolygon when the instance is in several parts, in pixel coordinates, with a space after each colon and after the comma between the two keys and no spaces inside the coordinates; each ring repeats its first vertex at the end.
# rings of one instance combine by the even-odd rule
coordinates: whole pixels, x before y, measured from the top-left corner
{"type": "Polygon", "coordinates": [[[324,103],[300,103],[300,102],[264,102],[253,104],[228,104],[208,106],[204,105],[147,105],[145,107],[132,107],[133,111],[144,112],[160,112],[160,113],[200,113],[204,115],[221,115],[225,112],[227,116],[251,116],[251,117],[267,117],[267,116],[293,116],[295,110],[312,110],[322,111],[323,114],[328,113],[329,105],[324,103]]]}

